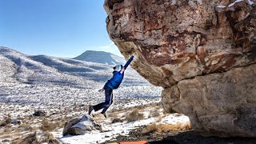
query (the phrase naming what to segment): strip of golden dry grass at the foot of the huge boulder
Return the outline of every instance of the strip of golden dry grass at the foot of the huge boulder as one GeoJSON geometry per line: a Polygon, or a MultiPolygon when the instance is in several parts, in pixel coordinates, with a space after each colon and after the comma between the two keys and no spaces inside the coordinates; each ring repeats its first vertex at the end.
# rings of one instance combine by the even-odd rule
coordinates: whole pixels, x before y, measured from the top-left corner
{"type": "Polygon", "coordinates": [[[169,125],[169,124],[151,124],[142,129],[142,134],[150,134],[154,132],[158,133],[166,133],[171,130],[190,130],[190,122],[187,122],[182,125],[182,123],[177,123],[176,125],[169,125]]]}

